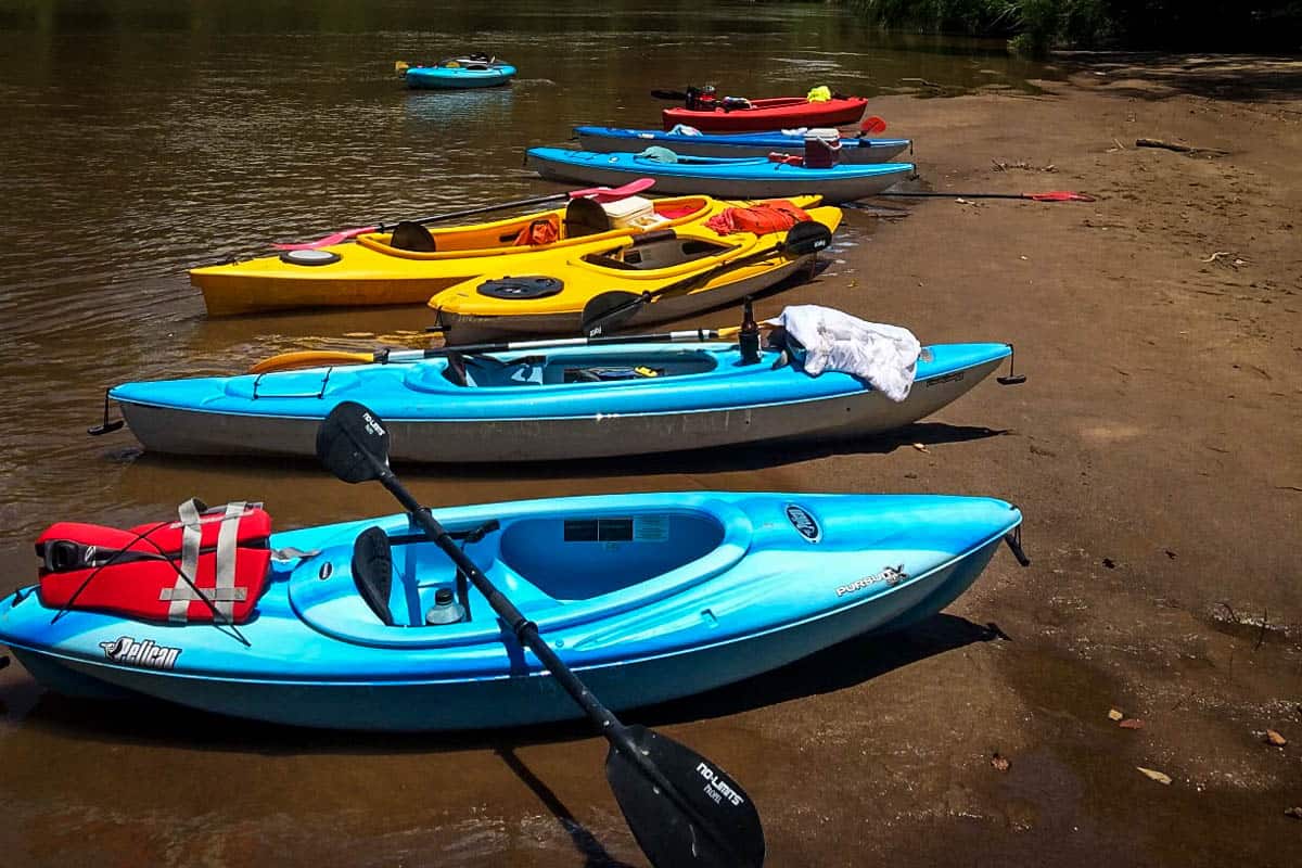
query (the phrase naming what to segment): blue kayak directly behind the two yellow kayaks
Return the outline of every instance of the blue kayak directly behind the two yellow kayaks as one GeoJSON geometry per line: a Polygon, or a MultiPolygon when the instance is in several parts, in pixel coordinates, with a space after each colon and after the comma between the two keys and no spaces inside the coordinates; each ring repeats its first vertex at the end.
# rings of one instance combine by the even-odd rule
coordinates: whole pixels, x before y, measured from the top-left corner
{"type": "Polygon", "coordinates": [[[811,169],[767,157],[677,156],[665,161],[641,154],[556,147],[530,148],[525,164],[552,181],[618,186],[630,178],[655,178],[656,193],[669,195],[768,199],[814,194],[823,197],[825,204],[876,195],[914,172],[911,163],[838,163],[811,169]]]}

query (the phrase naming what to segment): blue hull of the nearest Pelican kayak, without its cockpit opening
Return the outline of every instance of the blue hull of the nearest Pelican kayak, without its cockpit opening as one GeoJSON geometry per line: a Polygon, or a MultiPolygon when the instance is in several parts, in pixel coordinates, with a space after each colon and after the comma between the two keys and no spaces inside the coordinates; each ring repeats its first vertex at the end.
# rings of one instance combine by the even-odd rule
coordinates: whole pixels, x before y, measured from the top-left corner
{"type": "MultiPolygon", "coordinates": [[[[604,618],[566,623],[561,614],[551,625],[538,618],[542,635],[613,709],[699,694],[858,635],[931,617],[971,586],[1003,536],[1021,522],[1021,514],[1003,501],[937,496],[690,492],[538,504],[564,508],[566,501],[581,501],[583,514],[630,501],[650,501],[650,509],[667,509],[671,501],[686,509],[717,509],[724,521],[743,528],[729,524],[725,540],[741,532],[750,550],[766,554],[753,558],[734,552],[724,569],[674,584],[641,606],[608,608],[604,618]],[[818,517],[818,541],[798,532],[790,519],[793,505],[805,519],[818,517]]],[[[508,534],[508,522],[516,518],[512,506],[517,505],[439,510],[439,518],[454,522],[445,513],[487,514],[492,508],[504,515],[503,534],[508,534]]],[[[395,521],[406,527],[405,517],[374,523],[392,532],[395,521]]],[[[272,544],[318,547],[322,535],[332,534],[350,540],[370,523],[279,534],[272,544]]],[[[491,639],[479,644],[441,647],[427,647],[418,634],[447,627],[367,627],[411,639],[411,647],[345,642],[310,629],[301,618],[312,608],[298,613],[298,601],[307,599],[299,591],[306,584],[310,591],[333,593],[316,575],[318,562],[329,560],[340,562],[342,573],[331,605],[339,609],[349,603],[355,588],[342,563],[350,548],[350,541],[326,545],[294,567],[277,567],[281,571],[259,601],[260,617],[241,627],[247,647],[211,625],[169,627],[91,612],[69,612],[49,625],[49,610],[35,595],[22,592],[0,603],[0,643],[55,688],[100,685],[103,695],[139,694],[296,726],[467,730],[581,717],[555,679],[496,626],[484,634],[491,639]],[[105,660],[102,645],[120,644],[124,636],[147,638],[180,652],[171,669],[105,660]]],[[[471,548],[473,557],[486,557],[471,548]]],[[[496,569],[490,569],[490,576],[496,569]]],[[[499,575],[496,580],[505,579],[499,575]]],[[[555,600],[548,609],[535,593],[518,580],[510,591],[526,614],[556,609],[555,600]]],[[[496,625],[482,597],[471,599],[484,621],[496,625]]]]}

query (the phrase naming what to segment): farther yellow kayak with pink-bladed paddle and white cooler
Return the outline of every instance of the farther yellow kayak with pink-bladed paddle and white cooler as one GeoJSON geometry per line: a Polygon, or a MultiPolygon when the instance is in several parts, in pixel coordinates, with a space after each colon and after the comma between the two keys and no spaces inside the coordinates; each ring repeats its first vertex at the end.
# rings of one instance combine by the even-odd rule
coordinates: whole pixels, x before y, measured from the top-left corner
{"type": "MultiPolygon", "coordinates": [[[[816,204],[818,199],[807,202],[816,204]]],[[[582,256],[651,228],[699,225],[734,204],[708,197],[622,199],[607,206],[574,199],[566,208],[467,226],[427,230],[409,224],[423,238],[397,229],[319,250],[194,268],[190,282],[203,292],[212,316],[296,307],[423,305],[462,281],[504,271],[548,273],[570,255],[582,256]],[[642,213],[633,215],[638,206],[642,213]]]]}

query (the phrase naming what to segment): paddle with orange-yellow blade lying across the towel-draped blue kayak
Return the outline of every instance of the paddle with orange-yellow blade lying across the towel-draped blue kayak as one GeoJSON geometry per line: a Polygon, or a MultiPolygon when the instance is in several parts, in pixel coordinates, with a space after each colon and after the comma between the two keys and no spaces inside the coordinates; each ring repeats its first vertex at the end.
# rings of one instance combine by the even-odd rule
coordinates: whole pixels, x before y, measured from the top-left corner
{"type": "Polygon", "coordinates": [[[552,350],[566,346],[609,346],[615,344],[674,344],[682,341],[717,341],[734,337],[741,331],[738,325],[728,328],[694,328],[681,332],[658,332],[655,334],[617,334],[609,337],[557,337],[539,341],[510,341],[496,344],[461,344],[457,346],[435,346],[428,350],[376,350],[374,353],[348,353],[345,350],[296,350],[263,359],[249,368],[249,373],[270,373],[272,371],[294,371],[315,368],[326,364],[388,364],[389,362],[421,362],[436,359],[453,353],[460,355],[480,355],[483,353],[518,353],[521,350],[552,350]]]}

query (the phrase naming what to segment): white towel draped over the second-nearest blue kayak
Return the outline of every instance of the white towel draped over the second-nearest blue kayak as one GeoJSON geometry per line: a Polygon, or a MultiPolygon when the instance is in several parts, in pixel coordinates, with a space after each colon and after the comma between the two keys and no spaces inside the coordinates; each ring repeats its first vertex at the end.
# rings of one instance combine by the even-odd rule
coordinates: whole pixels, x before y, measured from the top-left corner
{"type": "Polygon", "coordinates": [[[805,372],[844,371],[867,380],[892,401],[904,401],[918,372],[922,345],[906,328],[867,323],[831,307],[794,305],[768,320],[805,346],[805,372]]]}

